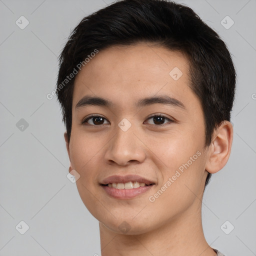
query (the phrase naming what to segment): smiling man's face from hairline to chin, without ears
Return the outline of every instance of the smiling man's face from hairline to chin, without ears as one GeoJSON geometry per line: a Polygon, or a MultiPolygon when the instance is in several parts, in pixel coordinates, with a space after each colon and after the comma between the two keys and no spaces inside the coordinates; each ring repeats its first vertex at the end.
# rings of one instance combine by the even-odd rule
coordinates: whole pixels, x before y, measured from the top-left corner
{"type": "Polygon", "coordinates": [[[195,209],[207,174],[188,60],[148,45],[99,51],[74,81],[70,165],[84,205],[117,233],[123,225],[144,233],[195,209]]]}

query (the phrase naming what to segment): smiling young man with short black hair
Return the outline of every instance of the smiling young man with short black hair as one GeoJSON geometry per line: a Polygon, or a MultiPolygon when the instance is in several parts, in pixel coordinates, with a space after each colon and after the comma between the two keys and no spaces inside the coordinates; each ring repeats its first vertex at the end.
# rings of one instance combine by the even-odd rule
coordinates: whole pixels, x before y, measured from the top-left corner
{"type": "Polygon", "coordinates": [[[189,7],[121,0],[75,27],[56,93],[102,256],[223,255],[201,199],[230,154],[234,91],[224,42],[189,7]]]}

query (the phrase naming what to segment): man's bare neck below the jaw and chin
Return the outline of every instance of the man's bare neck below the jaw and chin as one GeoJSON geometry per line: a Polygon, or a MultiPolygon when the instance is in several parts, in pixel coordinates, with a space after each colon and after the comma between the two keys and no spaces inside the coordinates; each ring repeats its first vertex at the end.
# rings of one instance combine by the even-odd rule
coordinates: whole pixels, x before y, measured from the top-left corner
{"type": "Polygon", "coordinates": [[[136,235],[119,234],[99,222],[102,256],[216,256],[204,238],[201,204],[191,205],[168,223],[136,235]]]}

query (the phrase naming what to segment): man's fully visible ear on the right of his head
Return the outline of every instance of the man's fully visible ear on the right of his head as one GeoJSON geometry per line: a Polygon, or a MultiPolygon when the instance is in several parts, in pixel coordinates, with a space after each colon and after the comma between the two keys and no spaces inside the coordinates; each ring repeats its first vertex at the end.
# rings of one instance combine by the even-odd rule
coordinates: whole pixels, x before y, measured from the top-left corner
{"type": "Polygon", "coordinates": [[[231,152],[232,140],[233,126],[225,120],[214,131],[213,140],[209,146],[205,165],[209,173],[215,173],[225,166],[231,152]]]}

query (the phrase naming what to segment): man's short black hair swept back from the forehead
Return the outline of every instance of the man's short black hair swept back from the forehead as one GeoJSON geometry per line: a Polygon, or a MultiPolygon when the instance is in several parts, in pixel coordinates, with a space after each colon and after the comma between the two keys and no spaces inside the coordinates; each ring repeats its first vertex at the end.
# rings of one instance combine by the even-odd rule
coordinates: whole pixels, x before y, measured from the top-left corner
{"type": "MultiPolygon", "coordinates": [[[[205,147],[209,146],[214,129],[222,121],[230,121],[236,77],[233,62],[219,35],[191,8],[167,0],[117,0],[84,17],[73,29],[59,55],[55,91],[68,141],[75,75],[68,80],[67,75],[95,49],[136,42],[155,42],[188,57],[188,86],[201,103],[205,147]]],[[[205,186],[210,176],[208,173],[205,186]]]]}

